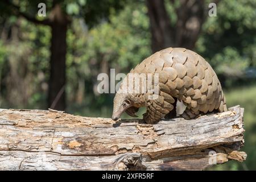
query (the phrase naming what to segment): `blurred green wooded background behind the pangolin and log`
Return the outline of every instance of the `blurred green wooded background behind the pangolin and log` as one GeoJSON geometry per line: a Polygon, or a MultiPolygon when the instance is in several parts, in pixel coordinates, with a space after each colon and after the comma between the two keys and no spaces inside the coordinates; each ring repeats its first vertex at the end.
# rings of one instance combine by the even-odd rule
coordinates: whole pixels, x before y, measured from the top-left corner
{"type": "Polygon", "coordinates": [[[255,170],[255,10],[256,0],[3,0],[0,108],[111,117],[114,94],[97,92],[99,73],[128,73],[155,51],[185,47],[212,65],[228,106],[245,108],[247,160],[209,169],[255,170]],[[208,15],[210,2],[217,16],[208,15]]]}

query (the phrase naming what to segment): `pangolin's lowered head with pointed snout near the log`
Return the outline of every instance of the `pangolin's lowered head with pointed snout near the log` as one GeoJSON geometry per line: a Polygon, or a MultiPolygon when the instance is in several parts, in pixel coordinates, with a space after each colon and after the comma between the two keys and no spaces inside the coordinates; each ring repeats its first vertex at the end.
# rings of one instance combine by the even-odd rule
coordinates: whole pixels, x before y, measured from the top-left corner
{"type": "Polygon", "coordinates": [[[114,106],[113,106],[113,114],[112,119],[117,121],[120,118],[121,114],[125,111],[131,117],[137,117],[135,113],[139,110],[138,106],[134,102],[134,98],[130,96],[130,94],[125,93],[117,93],[114,97],[114,106]]]}

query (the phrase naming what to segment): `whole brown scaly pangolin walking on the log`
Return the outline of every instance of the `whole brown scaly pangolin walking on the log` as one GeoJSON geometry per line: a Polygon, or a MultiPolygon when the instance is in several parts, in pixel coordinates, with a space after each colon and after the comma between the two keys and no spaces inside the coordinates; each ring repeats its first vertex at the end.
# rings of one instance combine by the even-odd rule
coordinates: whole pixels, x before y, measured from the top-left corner
{"type": "Polygon", "coordinates": [[[137,117],[135,113],[139,107],[144,106],[147,111],[143,114],[143,119],[147,123],[155,123],[162,118],[174,118],[177,100],[186,106],[181,114],[185,119],[213,111],[227,111],[225,96],[216,73],[203,57],[189,49],[170,47],[156,52],[131,69],[123,82],[114,97],[112,119],[115,121],[124,111],[137,117]],[[131,87],[134,81],[127,81],[131,73],[153,76],[158,73],[158,82],[152,78],[149,84],[153,88],[158,86],[158,97],[149,98],[148,96],[155,93],[148,89],[148,85],[146,89],[143,88],[142,82],[131,87]],[[139,93],[123,92],[126,86],[130,90],[141,89],[139,93]],[[142,92],[143,89],[146,92],[142,92]]]}

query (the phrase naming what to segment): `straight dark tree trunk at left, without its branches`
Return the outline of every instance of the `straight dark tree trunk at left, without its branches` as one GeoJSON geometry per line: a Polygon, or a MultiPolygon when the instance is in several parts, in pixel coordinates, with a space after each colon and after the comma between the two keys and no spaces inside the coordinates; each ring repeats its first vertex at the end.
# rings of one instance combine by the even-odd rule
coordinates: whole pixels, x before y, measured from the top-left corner
{"type": "Polygon", "coordinates": [[[65,60],[67,52],[68,19],[59,5],[55,5],[50,15],[51,19],[51,59],[48,89],[48,107],[65,110],[65,60]]]}

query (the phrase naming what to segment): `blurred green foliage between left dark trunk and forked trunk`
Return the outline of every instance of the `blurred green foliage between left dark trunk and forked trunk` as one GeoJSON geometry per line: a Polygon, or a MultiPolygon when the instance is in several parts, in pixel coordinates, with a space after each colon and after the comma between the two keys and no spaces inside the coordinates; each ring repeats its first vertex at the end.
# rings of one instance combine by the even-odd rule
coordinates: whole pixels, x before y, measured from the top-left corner
{"type": "MultiPolygon", "coordinates": [[[[82,102],[88,109],[112,105],[112,95],[98,96],[95,93],[99,73],[108,73],[110,68],[115,68],[116,74],[127,73],[150,55],[146,11],[143,3],[137,3],[136,6],[132,3],[119,13],[111,14],[109,22],[101,23],[89,31],[83,28],[81,19],[73,21],[68,31],[68,42],[72,42],[68,45],[67,54],[68,90],[72,92],[73,88],[78,89],[79,81],[85,81],[87,97],[82,102]],[[92,102],[93,106],[90,104],[92,102]]],[[[76,100],[74,97],[69,99],[76,100]]]]}

